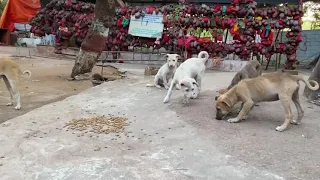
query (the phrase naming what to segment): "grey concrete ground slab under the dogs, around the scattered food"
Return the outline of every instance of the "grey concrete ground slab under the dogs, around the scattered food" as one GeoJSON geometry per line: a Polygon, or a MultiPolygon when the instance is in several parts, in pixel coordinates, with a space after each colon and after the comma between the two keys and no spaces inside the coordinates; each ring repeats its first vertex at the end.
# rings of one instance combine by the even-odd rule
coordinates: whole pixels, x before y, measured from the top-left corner
{"type": "Polygon", "coordinates": [[[152,78],[140,67],[129,70],[125,80],[2,123],[0,179],[320,179],[319,107],[302,97],[302,124],[277,132],[279,102],[261,103],[238,124],[214,119],[216,90],[234,73],[206,73],[201,98],[185,107],[181,92],[163,104],[166,91],[146,88],[152,78]],[[73,118],[108,114],[127,116],[130,136],[78,137],[63,129],[73,118]]]}

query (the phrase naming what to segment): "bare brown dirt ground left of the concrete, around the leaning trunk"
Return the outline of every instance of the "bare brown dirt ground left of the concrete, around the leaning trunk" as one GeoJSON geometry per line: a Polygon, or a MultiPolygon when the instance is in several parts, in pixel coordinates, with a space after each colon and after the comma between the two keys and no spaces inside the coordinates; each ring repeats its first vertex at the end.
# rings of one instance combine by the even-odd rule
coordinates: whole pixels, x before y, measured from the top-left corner
{"type": "MultiPolygon", "coordinates": [[[[19,91],[21,94],[22,109],[14,110],[7,107],[10,101],[9,93],[5,84],[0,80],[0,123],[14,117],[25,114],[45,104],[60,101],[68,96],[92,87],[90,80],[68,81],[74,61],[47,58],[21,58],[16,59],[22,70],[30,70],[32,76],[20,78],[19,91]]],[[[112,67],[105,67],[104,76],[114,76],[112,67]]],[[[95,67],[94,73],[101,73],[101,67],[95,67]]]]}

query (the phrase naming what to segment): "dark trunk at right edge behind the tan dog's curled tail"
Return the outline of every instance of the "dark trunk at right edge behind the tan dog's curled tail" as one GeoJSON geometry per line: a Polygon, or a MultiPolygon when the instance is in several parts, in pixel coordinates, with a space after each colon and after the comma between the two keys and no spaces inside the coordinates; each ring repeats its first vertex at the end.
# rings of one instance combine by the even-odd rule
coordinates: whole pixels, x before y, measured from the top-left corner
{"type": "MultiPolygon", "coordinates": [[[[320,61],[317,62],[316,67],[313,68],[309,80],[315,80],[320,84],[320,61]]],[[[310,100],[317,100],[320,90],[312,91],[308,87],[304,88],[304,95],[310,100]]]]}

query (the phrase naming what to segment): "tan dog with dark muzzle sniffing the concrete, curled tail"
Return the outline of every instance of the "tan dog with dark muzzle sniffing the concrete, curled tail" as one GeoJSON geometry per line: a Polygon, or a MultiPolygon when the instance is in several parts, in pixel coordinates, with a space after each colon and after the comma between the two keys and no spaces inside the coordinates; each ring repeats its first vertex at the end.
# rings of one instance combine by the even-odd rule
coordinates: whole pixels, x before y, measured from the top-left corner
{"type": "Polygon", "coordinates": [[[300,85],[298,81],[303,81],[313,91],[319,89],[319,84],[316,81],[306,81],[303,77],[282,72],[268,73],[256,78],[242,80],[218,98],[216,102],[216,119],[223,119],[238,102],[242,102],[243,107],[236,118],[228,120],[230,123],[236,123],[245,119],[255,103],[280,100],[284,107],[286,118],[284,123],[278,126],[276,130],[284,131],[290,123],[300,124],[304,112],[299,101],[300,85]],[[310,83],[314,84],[314,86],[311,86],[310,83]],[[297,120],[292,119],[290,108],[292,101],[298,111],[297,120]]]}

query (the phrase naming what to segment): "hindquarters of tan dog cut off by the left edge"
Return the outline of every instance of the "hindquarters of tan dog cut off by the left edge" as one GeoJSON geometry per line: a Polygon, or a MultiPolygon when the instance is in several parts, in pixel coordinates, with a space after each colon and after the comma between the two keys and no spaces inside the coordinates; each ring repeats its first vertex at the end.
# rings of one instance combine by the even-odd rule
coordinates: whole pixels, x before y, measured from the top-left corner
{"type": "Polygon", "coordinates": [[[12,59],[0,58],[0,79],[3,78],[11,97],[11,102],[7,106],[16,104],[16,110],[21,109],[20,93],[17,89],[18,77],[24,74],[28,74],[28,78],[31,77],[30,71],[22,72],[20,66],[12,59]]]}

